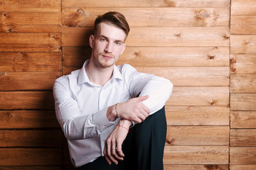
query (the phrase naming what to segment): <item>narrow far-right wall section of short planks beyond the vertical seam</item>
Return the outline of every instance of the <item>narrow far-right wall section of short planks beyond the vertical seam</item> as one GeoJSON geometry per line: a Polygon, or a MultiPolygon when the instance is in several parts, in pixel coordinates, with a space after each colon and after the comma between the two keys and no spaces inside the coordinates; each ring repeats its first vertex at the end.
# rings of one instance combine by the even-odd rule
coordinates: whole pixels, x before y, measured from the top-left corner
{"type": "Polygon", "coordinates": [[[233,0],[230,19],[230,170],[256,169],[256,1],[233,0]]]}

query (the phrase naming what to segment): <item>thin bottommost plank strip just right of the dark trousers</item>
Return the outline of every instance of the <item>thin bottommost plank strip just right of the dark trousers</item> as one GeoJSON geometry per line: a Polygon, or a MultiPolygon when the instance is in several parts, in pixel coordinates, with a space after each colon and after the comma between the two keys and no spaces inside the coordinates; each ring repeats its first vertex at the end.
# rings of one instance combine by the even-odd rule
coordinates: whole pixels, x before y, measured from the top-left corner
{"type": "Polygon", "coordinates": [[[228,170],[228,165],[164,165],[164,170],[228,170]]]}

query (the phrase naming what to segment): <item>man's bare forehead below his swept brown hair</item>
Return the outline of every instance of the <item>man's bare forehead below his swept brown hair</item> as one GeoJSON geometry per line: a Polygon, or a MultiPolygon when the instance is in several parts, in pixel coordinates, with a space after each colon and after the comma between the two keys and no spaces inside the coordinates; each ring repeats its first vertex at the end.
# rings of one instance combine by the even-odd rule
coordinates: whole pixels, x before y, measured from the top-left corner
{"type": "Polygon", "coordinates": [[[110,23],[100,23],[97,28],[97,36],[102,35],[111,40],[121,40],[124,42],[126,38],[126,34],[124,30],[121,28],[117,28],[116,26],[110,23]]]}

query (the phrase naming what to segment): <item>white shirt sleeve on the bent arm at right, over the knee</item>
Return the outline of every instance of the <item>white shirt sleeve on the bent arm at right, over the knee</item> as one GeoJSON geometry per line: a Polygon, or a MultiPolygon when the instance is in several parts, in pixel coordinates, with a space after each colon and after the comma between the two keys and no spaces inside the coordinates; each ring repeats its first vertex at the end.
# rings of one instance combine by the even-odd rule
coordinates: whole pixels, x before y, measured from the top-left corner
{"type": "Polygon", "coordinates": [[[126,64],[123,69],[131,96],[136,97],[139,93],[139,96],[149,95],[149,98],[143,101],[144,105],[150,109],[149,115],[164,107],[173,90],[173,84],[169,79],[137,72],[129,64],[126,64]]]}

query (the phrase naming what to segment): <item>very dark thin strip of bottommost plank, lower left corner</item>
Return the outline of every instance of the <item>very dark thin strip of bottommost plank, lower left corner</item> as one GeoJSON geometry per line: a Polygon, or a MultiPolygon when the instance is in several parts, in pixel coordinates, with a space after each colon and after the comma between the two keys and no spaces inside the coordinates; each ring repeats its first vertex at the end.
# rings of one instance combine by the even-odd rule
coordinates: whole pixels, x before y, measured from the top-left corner
{"type": "Polygon", "coordinates": [[[62,170],[61,166],[0,166],[1,170],[62,170]]]}

